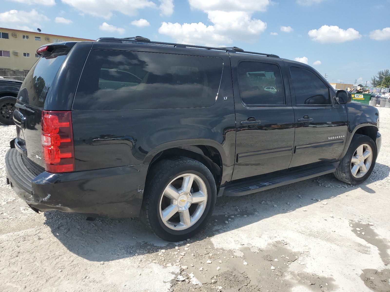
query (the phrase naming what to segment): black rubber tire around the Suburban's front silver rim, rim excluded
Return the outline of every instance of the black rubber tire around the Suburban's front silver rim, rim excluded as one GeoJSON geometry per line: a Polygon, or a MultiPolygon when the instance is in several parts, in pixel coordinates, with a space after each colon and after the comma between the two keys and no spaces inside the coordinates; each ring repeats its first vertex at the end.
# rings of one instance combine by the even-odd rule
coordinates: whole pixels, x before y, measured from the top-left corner
{"type": "Polygon", "coordinates": [[[370,176],[372,169],[374,169],[377,155],[378,153],[376,149],[376,144],[370,137],[366,135],[355,134],[352,138],[351,144],[349,145],[346,155],[344,156],[344,158],[342,158],[339,166],[333,174],[339,181],[343,181],[344,183],[349,183],[351,185],[358,185],[370,176]],[[356,149],[363,144],[368,144],[371,147],[372,161],[367,172],[362,177],[356,178],[355,176],[353,176],[351,171],[351,160],[355,154],[356,149]]]}

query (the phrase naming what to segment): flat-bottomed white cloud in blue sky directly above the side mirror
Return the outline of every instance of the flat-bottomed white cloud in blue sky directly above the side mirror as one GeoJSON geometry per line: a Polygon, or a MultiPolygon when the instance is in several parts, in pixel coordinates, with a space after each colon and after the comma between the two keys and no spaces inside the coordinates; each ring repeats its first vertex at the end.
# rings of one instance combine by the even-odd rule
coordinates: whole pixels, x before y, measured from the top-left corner
{"type": "Polygon", "coordinates": [[[312,40],[316,40],[321,43],[346,42],[348,40],[356,40],[362,37],[362,35],[353,28],[343,30],[336,25],[323,25],[318,30],[310,30],[308,35],[312,38],[312,40]]]}

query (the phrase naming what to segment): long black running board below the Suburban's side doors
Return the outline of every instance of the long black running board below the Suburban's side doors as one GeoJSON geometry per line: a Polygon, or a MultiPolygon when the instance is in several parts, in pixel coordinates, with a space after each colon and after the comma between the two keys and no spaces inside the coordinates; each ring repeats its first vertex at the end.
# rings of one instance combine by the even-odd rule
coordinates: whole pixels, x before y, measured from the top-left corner
{"type": "Polygon", "coordinates": [[[257,193],[270,188],[276,188],[278,186],[288,185],[290,183],[296,183],[297,181],[303,181],[309,178],[315,178],[331,172],[335,172],[339,161],[332,162],[317,167],[310,167],[300,169],[296,171],[289,171],[285,174],[277,174],[274,176],[268,176],[265,178],[251,179],[244,182],[233,183],[225,187],[223,192],[224,196],[243,196],[250,193],[257,193]]]}

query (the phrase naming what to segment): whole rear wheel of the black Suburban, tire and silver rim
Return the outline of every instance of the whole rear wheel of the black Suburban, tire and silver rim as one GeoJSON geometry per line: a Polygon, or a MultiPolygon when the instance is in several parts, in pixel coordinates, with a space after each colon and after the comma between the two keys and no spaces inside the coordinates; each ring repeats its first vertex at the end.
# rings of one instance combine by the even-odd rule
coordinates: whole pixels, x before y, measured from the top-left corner
{"type": "Polygon", "coordinates": [[[215,180],[204,164],[190,158],[165,159],[148,174],[141,217],[160,238],[182,241],[204,228],[215,202],[215,180]]]}

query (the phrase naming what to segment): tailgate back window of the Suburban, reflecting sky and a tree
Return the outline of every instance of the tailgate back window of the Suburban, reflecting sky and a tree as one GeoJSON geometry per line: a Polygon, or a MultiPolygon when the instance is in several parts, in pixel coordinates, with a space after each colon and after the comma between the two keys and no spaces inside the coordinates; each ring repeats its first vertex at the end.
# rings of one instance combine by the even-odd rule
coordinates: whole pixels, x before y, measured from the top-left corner
{"type": "Polygon", "coordinates": [[[43,108],[54,77],[66,58],[67,51],[39,58],[28,72],[18,99],[25,104],[43,108]]]}

